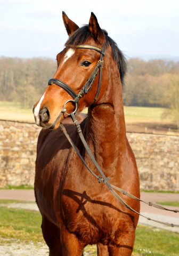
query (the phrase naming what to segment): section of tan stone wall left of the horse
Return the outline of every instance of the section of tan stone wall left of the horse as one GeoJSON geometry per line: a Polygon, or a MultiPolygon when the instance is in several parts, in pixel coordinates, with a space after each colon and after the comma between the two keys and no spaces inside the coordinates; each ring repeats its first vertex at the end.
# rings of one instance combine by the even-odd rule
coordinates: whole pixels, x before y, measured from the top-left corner
{"type": "Polygon", "coordinates": [[[0,121],[0,187],[34,185],[40,127],[0,121]]]}

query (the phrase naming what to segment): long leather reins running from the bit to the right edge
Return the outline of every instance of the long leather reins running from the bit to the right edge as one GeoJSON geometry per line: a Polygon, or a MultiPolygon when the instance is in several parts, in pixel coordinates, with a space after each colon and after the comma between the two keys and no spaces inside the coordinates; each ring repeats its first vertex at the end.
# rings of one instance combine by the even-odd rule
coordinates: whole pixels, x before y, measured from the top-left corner
{"type": "Polygon", "coordinates": [[[129,210],[135,212],[136,214],[141,215],[141,216],[144,217],[145,219],[152,220],[152,221],[154,221],[154,222],[158,222],[158,223],[160,223],[160,224],[167,225],[167,226],[170,226],[170,227],[179,227],[179,225],[175,225],[175,224],[173,224],[173,223],[167,223],[167,222],[162,222],[162,221],[153,220],[153,219],[151,219],[151,218],[148,218],[148,217],[146,217],[146,216],[140,214],[139,212],[135,211],[134,209],[132,209],[132,207],[129,206],[128,204],[126,204],[126,202],[125,202],[112,188],[114,188],[114,189],[120,191],[121,193],[123,193],[123,194],[126,195],[126,196],[129,196],[129,197],[131,197],[131,198],[133,198],[133,199],[135,199],[135,200],[137,200],[137,201],[144,202],[144,203],[146,203],[146,204],[148,204],[148,205],[150,205],[150,206],[156,207],[156,208],[158,208],[158,209],[167,210],[167,211],[173,211],[173,212],[179,212],[178,210],[170,210],[170,209],[167,209],[167,208],[162,207],[162,206],[160,206],[160,205],[152,204],[151,202],[142,201],[141,199],[139,199],[139,198],[137,198],[137,197],[131,195],[130,193],[128,193],[128,192],[125,191],[124,189],[121,189],[121,188],[118,188],[118,187],[116,187],[116,186],[110,185],[110,183],[109,183],[109,181],[108,181],[108,180],[109,180],[109,177],[108,177],[108,178],[105,177],[105,175],[104,175],[104,173],[102,172],[100,166],[97,164],[97,162],[96,162],[96,160],[95,160],[93,154],[91,153],[90,148],[88,147],[88,145],[87,145],[87,143],[86,143],[86,141],[85,141],[85,138],[83,137],[82,130],[81,130],[81,128],[80,128],[80,125],[79,125],[79,123],[78,123],[78,121],[77,121],[75,115],[74,115],[73,113],[71,113],[70,116],[71,116],[72,121],[74,122],[74,124],[75,124],[75,126],[76,126],[76,129],[77,129],[77,132],[78,132],[78,134],[79,134],[79,137],[80,137],[80,139],[82,140],[82,143],[83,143],[84,147],[86,148],[88,155],[91,157],[91,159],[92,159],[93,163],[95,164],[96,168],[97,168],[97,169],[99,170],[99,172],[101,173],[102,178],[101,178],[100,176],[97,177],[97,175],[96,175],[93,171],[91,171],[91,169],[87,166],[87,164],[85,163],[83,157],[80,155],[80,153],[79,153],[78,149],[76,148],[74,142],[72,142],[72,140],[71,140],[69,134],[67,133],[65,127],[64,127],[62,124],[60,124],[61,130],[63,131],[64,135],[66,136],[66,138],[67,138],[68,141],[70,142],[71,146],[75,149],[76,153],[78,154],[78,156],[80,157],[80,159],[82,160],[82,162],[85,164],[85,166],[87,167],[87,169],[99,180],[99,183],[101,183],[101,181],[104,182],[104,183],[107,185],[107,187],[109,188],[109,190],[111,191],[111,193],[118,199],[118,201],[119,201],[121,204],[123,204],[123,205],[126,206],[129,210]]]}

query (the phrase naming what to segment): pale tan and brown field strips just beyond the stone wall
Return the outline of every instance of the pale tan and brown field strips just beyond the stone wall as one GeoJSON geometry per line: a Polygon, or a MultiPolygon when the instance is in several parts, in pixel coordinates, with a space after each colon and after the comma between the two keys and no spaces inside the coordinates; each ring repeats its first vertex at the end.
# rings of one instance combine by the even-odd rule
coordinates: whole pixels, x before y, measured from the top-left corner
{"type": "MultiPolygon", "coordinates": [[[[35,123],[34,115],[32,113],[12,113],[0,111],[1,120],[19,121],[35,123]]],[[[143,133],[153,133],[153,134],[167,134],[167,135],[177,135],[176,124],[169,121],[152,121],[152,120],[141,120],[136,118],[126,118],[126,131],[127,132],[143,132],[143,133]]]]}

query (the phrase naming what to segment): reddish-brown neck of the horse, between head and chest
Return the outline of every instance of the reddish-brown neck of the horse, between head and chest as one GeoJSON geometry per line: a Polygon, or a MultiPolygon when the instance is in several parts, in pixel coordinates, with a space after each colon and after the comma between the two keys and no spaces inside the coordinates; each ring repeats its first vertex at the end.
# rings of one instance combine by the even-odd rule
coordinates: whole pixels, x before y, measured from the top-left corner
{"type": "MultiPolygon", "coordinates": [[[[109,67],[109,66],[108,66],[109,67]]],[[[102,81],[105,90],[93,109],[88,110],[86,140],[96,158],[110,177],[111,170],[124,170],[126,163],[126,128],[122,86],[118,68],[108,69],[102,81]],[[112,72],[110,72],[112,71],[112,72]]],[[[115,175],[115,173],[113,173],[115,175]]]]}

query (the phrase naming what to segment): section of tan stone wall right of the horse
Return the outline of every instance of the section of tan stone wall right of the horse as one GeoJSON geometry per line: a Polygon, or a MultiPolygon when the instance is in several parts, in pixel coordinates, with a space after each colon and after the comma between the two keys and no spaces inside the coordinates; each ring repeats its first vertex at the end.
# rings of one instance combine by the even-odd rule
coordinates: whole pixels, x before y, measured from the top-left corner
{"type": "Polygon", "coordinates": [[[141,189],[179,191],[179,137],[128,133],[141,189]]]}

